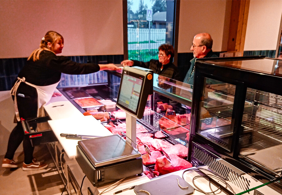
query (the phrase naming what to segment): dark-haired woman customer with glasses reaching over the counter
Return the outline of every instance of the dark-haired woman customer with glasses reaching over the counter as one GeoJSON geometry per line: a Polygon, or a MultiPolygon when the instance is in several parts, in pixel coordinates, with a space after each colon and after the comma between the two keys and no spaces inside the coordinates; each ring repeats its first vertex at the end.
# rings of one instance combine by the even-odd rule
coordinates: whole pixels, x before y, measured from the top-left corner
{"type": "Polygon", "coordinates": [[[180,74],[177,67],[172,63],[174,57],[174,49],[170,44],[161,44],[158,52],[159,59],[151,59],[149,62],[141,62],[137,60],[123,60],[123,66],[140,66],[151,69],[155,74],[159,74],[170,79],[180,80],[180,74]]]}

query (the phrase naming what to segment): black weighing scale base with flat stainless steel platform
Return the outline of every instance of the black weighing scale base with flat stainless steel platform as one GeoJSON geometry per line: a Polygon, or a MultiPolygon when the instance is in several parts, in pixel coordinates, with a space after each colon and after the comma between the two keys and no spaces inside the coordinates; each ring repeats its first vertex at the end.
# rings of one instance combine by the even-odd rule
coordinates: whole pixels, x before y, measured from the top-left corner
{"type": "Polygon", "coordinates": [[[120,135],[78,141],[76,161],[93,186],[143,173],[141,153],[120,135]]]}

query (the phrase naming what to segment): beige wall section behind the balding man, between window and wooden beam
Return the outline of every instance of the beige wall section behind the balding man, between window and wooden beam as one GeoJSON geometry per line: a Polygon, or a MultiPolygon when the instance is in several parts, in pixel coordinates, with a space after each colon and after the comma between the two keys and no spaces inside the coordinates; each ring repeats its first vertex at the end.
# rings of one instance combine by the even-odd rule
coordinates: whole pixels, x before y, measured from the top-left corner
{"type": "Polygon", "coordinates": [[[209,33],[213,51],[226,51],[232,1],[181,0],[178,52],[191,52],[193,38],[209,33]]]}

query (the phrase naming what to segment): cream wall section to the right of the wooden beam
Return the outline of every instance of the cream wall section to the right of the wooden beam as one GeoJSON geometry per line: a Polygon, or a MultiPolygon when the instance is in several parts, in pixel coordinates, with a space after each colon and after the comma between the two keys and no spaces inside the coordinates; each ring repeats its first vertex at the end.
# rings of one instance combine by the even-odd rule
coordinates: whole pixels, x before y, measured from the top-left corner
{"type": "Polygon", "coordinates": [[[244,50],[276,50],[281,14],[281,0],[251,0],[244,50]]]}

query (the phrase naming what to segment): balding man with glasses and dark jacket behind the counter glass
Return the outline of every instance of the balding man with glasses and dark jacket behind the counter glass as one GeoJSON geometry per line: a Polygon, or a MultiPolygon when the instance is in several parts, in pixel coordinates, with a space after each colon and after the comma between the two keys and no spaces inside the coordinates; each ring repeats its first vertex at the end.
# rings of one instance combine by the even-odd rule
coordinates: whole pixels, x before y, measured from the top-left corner
{"type": "Polygon", "coordinates": [[[190,85],[194,84],[194,71],[195,61],[197,58],[216,58],[217,55],[212,52],[212,37],[208,33],[196,34],[192,46],[190,48],[193,51],[194,58],[191,59],[191,66],[188,70],[183,82],[190,85]]]}

